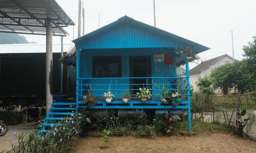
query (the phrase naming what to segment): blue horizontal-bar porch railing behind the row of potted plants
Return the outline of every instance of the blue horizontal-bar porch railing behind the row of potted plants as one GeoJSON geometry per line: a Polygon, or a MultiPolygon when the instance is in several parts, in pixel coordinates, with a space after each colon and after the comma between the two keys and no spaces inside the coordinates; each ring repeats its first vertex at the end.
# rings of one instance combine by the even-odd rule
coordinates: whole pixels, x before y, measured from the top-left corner
{"type": "MultiPolygon", "coordinates": [[[[79,84],[77,84],[78,103],[82,104],[82,97],[87,96],[88,88],[91,88],[91,92],[98,99],[97,104],[102,104],[102,107],[95,108],[108,108],[105,105],[105,99],[103,98],[103,93],[107,93],[110,89],[111,93],[115,96],[111,104],[115,104],[115,107],[111,108],[142,108],[135,107],[133,104],[140,104],[140,98],[136,97],[136,92],[138,92],[139,87],[146,87],[147,89],[152,89],[152,98],[144,104],[155,104],[155,106],[161,106],[159,95],[162,90],[163,85],[169,90],[169,92],[183,93],[181,95],[187,95],[187,84],[186,80],[188,77],[125,77],[125,78],[77,78],[79,84]],[[157,85],[157,86],[156,86],[157,85]],[[116,104],[123,104],[122,95],[123,93],[131,93],[132,99],[128,104],[130,107],[117,106],[116,104]],[[185,92],[185,93],[184,93],[185,92]],[[157,104],[157,105],[156,105],[157,104]],[[103,107],[104,106],[104,107],[103,107]]],[[[188,92],[189,93],[189,92],[188,92]]],[[[189,101],[183,101],[182,104],[188,104],[189,101]]],[[[165,107],[146,107],[146,108],[165,108],[165,107]]]]}

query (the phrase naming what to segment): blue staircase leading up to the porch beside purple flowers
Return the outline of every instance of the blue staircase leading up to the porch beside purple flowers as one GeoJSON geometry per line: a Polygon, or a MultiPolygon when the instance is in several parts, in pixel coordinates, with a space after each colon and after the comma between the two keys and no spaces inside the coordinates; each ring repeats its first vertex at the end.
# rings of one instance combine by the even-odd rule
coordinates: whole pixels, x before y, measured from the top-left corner
{"type": "Polygon", "coordinates": [[[59,120],[64,120],[66,115],[70,115],[73,114],[71,111],[76,111],[76,108],[72,107],[67,107],[69,105],[76,105],[75,102],[56,102],[53,103],[49,113],[46,114],[46,118],[44,118],[44,123],[41,124],[41,129],[40,129],[40,137],[42,135],[42,133],[47,132],[49,126],[51,126],[51,124],[53,124],[53,126],[55,124],[58,124],[59,120]],[[56,107],[58,106],[58,107],[56,107]]]}

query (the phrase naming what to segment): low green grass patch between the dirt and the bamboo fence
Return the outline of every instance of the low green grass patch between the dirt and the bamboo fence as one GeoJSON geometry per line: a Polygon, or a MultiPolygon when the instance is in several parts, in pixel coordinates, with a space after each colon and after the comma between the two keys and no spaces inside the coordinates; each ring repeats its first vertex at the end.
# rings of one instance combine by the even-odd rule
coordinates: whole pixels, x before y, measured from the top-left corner
{"type": "MultiPolygon", "coordinates": [[[[180,131],[182,130],[188,130],[187,129],[187,121],[183,121],[178,124],[178,129],[180,131]]],[[[192,120],[191,121],[192,131],[199,134],[199,135],[209,135],[211,133],[221,132],[221,133],[230,133],[233,132],[232,127],[222,125],[222,124],[216,124],[216,123],[209,123],[204,121],[197,121],[192,120]]]]}

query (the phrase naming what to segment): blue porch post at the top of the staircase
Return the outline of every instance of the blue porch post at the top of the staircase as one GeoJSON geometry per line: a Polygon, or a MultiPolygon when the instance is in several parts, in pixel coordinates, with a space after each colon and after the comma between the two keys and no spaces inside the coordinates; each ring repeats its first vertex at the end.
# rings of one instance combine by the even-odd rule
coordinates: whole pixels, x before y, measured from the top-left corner
{"type": "Polygon", "coordinates": [[[76,112],[78,110],[79,101],[79,69],[80,69],[80,51],[76,49],[76,112]]]}

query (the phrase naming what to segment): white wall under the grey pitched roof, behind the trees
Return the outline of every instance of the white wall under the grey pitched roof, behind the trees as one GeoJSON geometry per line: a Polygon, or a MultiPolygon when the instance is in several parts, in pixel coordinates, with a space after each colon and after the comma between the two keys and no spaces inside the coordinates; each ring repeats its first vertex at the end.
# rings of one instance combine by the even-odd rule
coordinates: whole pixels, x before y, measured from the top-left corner
{"type": "Polygon", "coordinates": [[[218,66],[224,65],[225,61],[229,61],[229,63],[233,63],[232,58],[230,58],[228,56],[224,56],[220,60],[218,60],[215,63],[213,63],[212,65],[210,65],[208,68],[204,69],[202,72],[189,75],[190,76],[189,83],[194,87],[194,90],[198,90],[195,85],[195,82],[197,81],[198,76],[201,76],[203,78],[205,75],[210,75],[213,69],[217,68],[218,66]]]}

